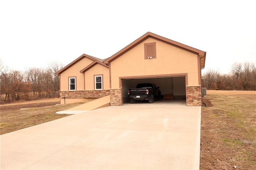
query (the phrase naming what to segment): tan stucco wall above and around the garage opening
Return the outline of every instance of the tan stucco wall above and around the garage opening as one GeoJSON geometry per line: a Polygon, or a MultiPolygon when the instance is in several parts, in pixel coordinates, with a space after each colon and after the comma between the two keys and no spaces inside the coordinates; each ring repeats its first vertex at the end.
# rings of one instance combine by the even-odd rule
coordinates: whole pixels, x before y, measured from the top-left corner
{"type": "Polygon", "coordinates": [[[119,77],[188,73],[188,85],[198,85],[198,55],[148,38],[111,63],[111,88],[119,87],[119,77]],[[156,42],[156,58],[144,58],[144,43],[156,42]]]}

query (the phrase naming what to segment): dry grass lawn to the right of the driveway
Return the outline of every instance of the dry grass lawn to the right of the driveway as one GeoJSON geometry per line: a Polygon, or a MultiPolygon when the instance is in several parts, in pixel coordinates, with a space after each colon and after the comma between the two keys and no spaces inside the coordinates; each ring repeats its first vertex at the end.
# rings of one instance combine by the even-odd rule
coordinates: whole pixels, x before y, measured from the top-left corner
{"type": "Polygon", "coordinates": [[[200,169],[256,169],[256,91],[207,91],[200,169]]]}

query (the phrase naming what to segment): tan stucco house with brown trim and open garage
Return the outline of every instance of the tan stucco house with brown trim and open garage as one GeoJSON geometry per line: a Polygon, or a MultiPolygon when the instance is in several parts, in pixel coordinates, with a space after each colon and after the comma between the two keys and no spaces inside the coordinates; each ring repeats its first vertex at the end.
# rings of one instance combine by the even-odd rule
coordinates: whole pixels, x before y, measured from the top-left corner
{"type": "Polygon", "coordinates": [[[129,101],[129,88],[155,83],[162,95],[201,106],[205,58],[204,51],[147,32],[107,59],[83,54],[58,71],[60,101],[88,102],[110,95],[110,105],[119,106],[129,101]]]}

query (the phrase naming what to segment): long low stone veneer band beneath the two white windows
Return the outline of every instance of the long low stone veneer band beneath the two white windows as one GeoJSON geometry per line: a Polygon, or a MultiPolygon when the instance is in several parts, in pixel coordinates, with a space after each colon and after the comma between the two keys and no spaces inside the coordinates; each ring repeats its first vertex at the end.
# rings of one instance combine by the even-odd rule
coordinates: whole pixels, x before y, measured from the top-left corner
{"type": "Polygon", "coordinates": [[[60,91],[60,99],[101,98],[109,95],[109,90],[60,91]]]}

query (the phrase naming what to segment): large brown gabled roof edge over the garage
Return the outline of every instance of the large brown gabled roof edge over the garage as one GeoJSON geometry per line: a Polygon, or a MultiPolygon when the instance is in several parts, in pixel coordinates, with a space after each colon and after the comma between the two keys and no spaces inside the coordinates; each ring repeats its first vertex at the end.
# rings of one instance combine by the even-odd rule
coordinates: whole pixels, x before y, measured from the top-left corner
{"type": "Polygon", "coordinates": [[[136,45],[138,45],[139,43],[141,43],[142,41],[144,41],[144,40],[146,40],[148,38],[154,38],[156,40],[160,40],[162,42],[169,43],[169,44],[174,45],[176,47],[179,47],[179,48],[182,48],[184,50],[190,51],[192,53],[198,54],[201,57],[201,59],[200,59],[201,68],[204,68],[206,52],[201,51],[201,50],[196,49],[196,48],[193,48],[193,47],[190,47],[188,45],[184,45],[184,44],[179,43],[179,42],[175,42],[175,41],[170,40],[168,38],[164,38],[162,36],[158,36],[158,35],[153,34],[151,32],[147,32],[146,34],[144,34],[143,36],[141,36],[140,38],[138,38],[134,42],[130,43],[129,45],[127,45],[126,47],[124,47],[123,49],[121,49],[120,51],[115,53],[114,55],[112,55],[111,57],[105,59],[104,63],[110,63],[111,61],[117,59],[122,54],[126,53],[127,51],[129,51],[130,49],[132,49],[133,47],[135,47],[136,45]]]}

